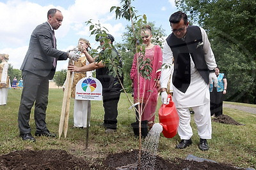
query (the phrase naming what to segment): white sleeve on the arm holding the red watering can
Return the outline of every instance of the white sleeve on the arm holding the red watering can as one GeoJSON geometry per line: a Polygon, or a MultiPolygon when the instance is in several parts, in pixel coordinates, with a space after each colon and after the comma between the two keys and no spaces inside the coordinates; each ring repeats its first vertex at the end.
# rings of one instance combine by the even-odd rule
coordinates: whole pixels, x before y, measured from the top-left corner
{"type": "Polygon", "coordinates": [[[167,88],[168,80],[173,70],[173,53],[170,46],[165,41],[163,49],[163,65],[160,77],[161,88],[167,88]]]}

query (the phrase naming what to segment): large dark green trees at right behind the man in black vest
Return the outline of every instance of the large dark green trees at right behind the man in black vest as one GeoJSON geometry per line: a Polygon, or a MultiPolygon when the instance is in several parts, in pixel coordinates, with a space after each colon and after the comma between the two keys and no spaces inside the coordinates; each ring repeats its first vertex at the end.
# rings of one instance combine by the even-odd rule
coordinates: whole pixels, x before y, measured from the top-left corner
{"type": "Polygon", "coordinates": [[[189,21],[207,31],[228,80],[228,101],[256,104],[256,1],[176,0],[189,21]]]}

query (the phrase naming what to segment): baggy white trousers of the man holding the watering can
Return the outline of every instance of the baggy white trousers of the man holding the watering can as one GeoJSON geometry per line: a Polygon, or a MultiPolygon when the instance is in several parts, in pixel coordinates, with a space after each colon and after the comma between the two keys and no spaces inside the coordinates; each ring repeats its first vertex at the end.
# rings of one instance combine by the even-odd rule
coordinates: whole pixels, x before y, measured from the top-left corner
{"type": "MultiPolygon", "coordinates": [[[[202,139],[211,139],[212,124],[210,102],[192,108],[195,111],[194,120],[199,137],[202,139]]],[[[190,139],[193,136],[193,131],[190,125],[191,117],[189,108],[177,108],[177,112],[180,118],[178,127],[180,139],[190,139]]]]}

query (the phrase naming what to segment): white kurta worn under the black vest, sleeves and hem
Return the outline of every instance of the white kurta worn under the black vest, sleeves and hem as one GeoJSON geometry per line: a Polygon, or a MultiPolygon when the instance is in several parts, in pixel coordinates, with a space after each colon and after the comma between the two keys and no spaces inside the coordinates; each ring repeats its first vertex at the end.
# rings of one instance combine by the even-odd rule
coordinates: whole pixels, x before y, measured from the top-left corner
{"type": "MultiPolygon", "coordinates": [[[[204,42],[204,56],[205,62],[207,64],[208,69],[212,70],[217,65],[215,62],[214,54],[211,50],[211,45],[207,38],[207,34],[204,29],[200,28],[202,32],[202,41],[204,42]]],[[[163,64],[172,65],[173,60],[173,53],[170,46],[167,42],[164,43],[163,49],[163,64]]],[[[191,82],[190,85],[185,93],[180,92],[180,90],[173,87],[173,102],[177,108],[189,108],[194,106],[202,106],[203,104],[209,102],[210,100],[210,93],[209,87],[205,83],[202,76],[196,70],[195,64],[191,59],[191,82]]],[[[166,88],[168,80],[171,76],[173,67],[163,67],[162,74],[161,74],[161,88],[166,88]]]]}

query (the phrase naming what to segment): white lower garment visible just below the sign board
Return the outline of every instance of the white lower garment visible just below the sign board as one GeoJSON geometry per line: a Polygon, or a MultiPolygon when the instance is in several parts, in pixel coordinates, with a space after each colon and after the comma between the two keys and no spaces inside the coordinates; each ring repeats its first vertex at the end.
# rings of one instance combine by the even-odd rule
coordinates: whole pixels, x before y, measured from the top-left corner
{"type": "Polygon", "coordinates": [[[91,117],[91,101],[74,101],[74,126],[75,127],[86,127],[87,117],[91,117]]]}

